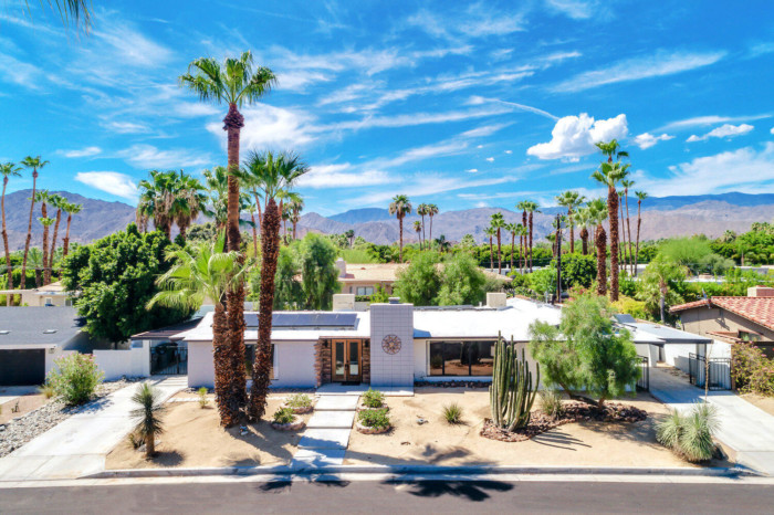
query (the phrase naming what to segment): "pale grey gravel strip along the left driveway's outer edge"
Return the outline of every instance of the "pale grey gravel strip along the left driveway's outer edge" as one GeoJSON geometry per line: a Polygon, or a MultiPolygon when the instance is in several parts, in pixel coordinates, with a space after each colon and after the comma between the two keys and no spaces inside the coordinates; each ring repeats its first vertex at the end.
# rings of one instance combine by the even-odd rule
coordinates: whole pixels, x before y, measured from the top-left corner
{"type": "MultiPolygon", "coordinates": [[[[143,378],[122,378],[117,381],[103,382],[97,387],[94,399],[108,396],[116,390],[143,380],[143,378]]],[[[66,406],[59,399],[41,406],[34,411],[0,424],[0,458],[10,454],[35,437],[43,434],[64,419],[73,414],[80,406],[66,406]]]]}

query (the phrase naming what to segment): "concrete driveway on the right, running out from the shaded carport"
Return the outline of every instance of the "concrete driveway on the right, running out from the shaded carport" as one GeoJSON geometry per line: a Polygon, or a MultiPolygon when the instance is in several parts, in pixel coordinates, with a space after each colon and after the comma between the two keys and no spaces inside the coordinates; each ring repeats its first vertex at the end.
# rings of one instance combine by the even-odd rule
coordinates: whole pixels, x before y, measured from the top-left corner
{"type": "MultiPolygon", "coordinates": [[[[680,411],[704,399],[704,390],[667,371],[650,368],[650,393],[680,411]]],[[[718,408],[720,429],[715,435],[736,454],[736,462],[774,475],[774,417],[731,391],[710,391],[718,408]]]]}

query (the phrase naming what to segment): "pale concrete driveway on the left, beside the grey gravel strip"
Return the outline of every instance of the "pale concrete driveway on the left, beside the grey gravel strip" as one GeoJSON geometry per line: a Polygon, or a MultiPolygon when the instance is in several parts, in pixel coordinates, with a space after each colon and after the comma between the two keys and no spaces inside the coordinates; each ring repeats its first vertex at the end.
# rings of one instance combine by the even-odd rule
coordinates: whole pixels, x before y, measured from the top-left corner
{"type": "MultiPolygon", "coordinates": [[[[186,377],[150,380],[163,400],[187,387],[186,377]]],[[[105,456],[135,428],[129,412],[137,385],[82,407],[75,414],[0,459],[0,481],[75,479],[105,470],[105,456]]]]}

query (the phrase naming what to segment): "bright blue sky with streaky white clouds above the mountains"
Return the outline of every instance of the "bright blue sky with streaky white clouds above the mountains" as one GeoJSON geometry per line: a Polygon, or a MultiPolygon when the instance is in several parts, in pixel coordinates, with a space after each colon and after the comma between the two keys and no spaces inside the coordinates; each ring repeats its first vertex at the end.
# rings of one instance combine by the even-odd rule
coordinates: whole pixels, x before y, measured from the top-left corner
{"type": "Polygon", "coordinates": [[[279,85],[242,150],[301,154],[307,211],[596,196],[613,137],[652,196],[774,192],[771,1],[95,1],[86,36],[30,3],[0,7],[0,160],[42,155],[43,188],[223,165],[226,108],[177,76],[250,49],[279,85]]]}

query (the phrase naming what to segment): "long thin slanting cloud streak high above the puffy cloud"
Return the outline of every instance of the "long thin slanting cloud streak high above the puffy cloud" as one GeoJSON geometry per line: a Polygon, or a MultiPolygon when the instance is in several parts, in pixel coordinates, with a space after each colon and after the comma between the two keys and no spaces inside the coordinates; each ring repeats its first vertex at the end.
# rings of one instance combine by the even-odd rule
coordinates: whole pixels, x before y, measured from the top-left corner
{"type": "Polygon", "coordinates": [[[619,61],[611,66],[584,72],[552,87],[554,92],[578,92],[605,84],[672,75],[717,63],[725,52],[658,52],[648,57],[619,61]]]}

